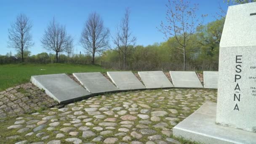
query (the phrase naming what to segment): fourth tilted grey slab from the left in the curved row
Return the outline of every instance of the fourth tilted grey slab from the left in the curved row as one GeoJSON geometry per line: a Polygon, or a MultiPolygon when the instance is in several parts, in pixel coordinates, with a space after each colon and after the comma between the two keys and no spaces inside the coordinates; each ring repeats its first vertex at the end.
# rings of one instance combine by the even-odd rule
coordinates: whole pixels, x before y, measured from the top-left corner
{"type": "Polygon", "coordinates": [[[172,88],[170,80],[162,71],[138,72],[146,88],[172,88]]]}

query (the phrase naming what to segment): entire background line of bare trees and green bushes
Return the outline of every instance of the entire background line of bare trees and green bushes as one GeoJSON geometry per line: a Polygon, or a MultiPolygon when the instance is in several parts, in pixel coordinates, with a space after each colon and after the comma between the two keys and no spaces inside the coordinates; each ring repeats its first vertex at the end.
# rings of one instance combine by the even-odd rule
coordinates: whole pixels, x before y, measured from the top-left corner
{"type": "MultiPolygon", "coordinates": [[[[235,5],[254,1],[224,2],[235,5]]],[[[37,61],[43,56],[44,59],[48,59],[45,63],[84,64],[86,61],[86,64],[95,64],[95,61],[103,61],[101,64],[104,67],[120,70],[218,70],[219,42],[226,12],[220,8],[220,13],[217,12],[219,17],[203,25],[203,19],[207,15],[196,15],[197,4],[184,0],[168,0],[166,7],[166,19],[156,27],[164,35],[163,43],[136,45],[137,38],[132,35],[129,25],[131,11],[126,8],[123,19],[115,27],[114,35],[110,35],[109,29],[104,26],[104,21],[98,13],[94,12],[88,16],[79,40],[87,55],[74,54],[72,36],[67,33],[65,26],[53,18],[45,28],[41,44],[45,50],[55,52],[55,60],[53,54],[48,53],[29,56],[28,49],[34,43],[30,33],[32,23],[25,14],[19,14],[16,22],[8,29],[8,47],[18,50],[17,56],[22,62],[25,58],[27,61],[37,61]],[[112,47],[109,45],[110,39],[114,43],[112,47]],[[96,53],[99,55],[96,56],[96,53]]],[[[1,59],[3,56],[0,57],[0,63],[1,61],[4,63],[1,59]]]]}

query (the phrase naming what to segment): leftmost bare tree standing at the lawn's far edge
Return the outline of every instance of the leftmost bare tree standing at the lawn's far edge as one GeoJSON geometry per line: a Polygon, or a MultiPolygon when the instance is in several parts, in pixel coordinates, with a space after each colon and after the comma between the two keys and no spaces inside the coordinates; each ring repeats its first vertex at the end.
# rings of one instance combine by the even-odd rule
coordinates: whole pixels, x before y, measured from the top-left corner
{"type": "Polygon", "coordinates": [[[24,51],[34,45],[30,34],[31,29],[32,22],[25,14],[19,14],[16,17],[16,22],[11,24],[11,28],[8,29],[8,47],[16,48],[21,53],[22,62],[24,62],[24,51]]]}

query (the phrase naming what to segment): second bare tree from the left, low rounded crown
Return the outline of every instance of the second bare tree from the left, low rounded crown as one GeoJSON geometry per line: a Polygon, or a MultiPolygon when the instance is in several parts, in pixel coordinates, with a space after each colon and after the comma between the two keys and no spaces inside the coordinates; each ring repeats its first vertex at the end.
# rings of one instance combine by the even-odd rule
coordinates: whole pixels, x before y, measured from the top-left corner
{"type": "Polygon", "coordinates": [[[66,28],[57,23],[53,18],[53,21],[45,29],[41,43],[46,50],[55,51],[56,62],[58,63],[58,54],[66,51],[72,45],[73,38],[67,34],[66,28]]]}

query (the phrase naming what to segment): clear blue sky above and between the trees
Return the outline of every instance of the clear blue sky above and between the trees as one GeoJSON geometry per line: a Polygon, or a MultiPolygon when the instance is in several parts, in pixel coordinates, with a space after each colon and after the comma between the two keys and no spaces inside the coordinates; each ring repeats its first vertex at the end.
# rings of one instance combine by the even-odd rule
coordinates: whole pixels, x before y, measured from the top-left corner
{"type": "MultiPolygon", "coordinates": [[[[66,26],[67,32],[75,39],[76,49],[85,53],[78,44],[83,25],[89,15],[96,11],[104,20],[104,25],[114,34],[115,26],[123,18],[125,8],[131,10],[130,27],[137,37],[137,45],[151,45],[164,41],[163,34],[156,27],[165,21],[168,0],[0,0],[0,55],[8,52],[16,53],[7,48],[8,28],[19,13],[26,14],[33,23],[32,36],[35,45],[29,49],[32,54],[45,52],[40,39],[49,21],[56,21],[66,26]]],[[[199,4],[197,15],[208,14],[205,24],[216,20],[219,4],[226,10],[223,0],[192,0],[199,4]]],[[[112,43],[111,43],[112,45],[112,43]]]]}

